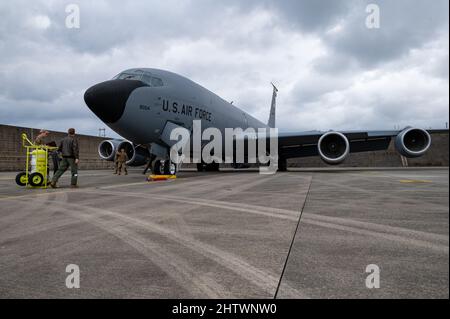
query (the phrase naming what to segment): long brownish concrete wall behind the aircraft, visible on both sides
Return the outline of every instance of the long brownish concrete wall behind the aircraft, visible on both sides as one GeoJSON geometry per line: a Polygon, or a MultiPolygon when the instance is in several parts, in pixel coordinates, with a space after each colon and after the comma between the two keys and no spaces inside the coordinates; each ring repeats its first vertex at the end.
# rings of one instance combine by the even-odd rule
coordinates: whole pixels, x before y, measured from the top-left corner
{"type": "MultiPolygon", "coordinates": [[[[0,125],[0,171],[21,171],[25,167],[25,149],[22,147],[22,133],[26,133],[30,140],[39,134],[38,129],[0,125]]],[[[50,132],[48,141],[59,141],[65,132],[50,132]]],[[[112,169],[111,162],[100,160],[97,147],[105,138],[97,136],[77,135],[80,142],[80,169],[112,169]]],[[[428,153],[417,159],[408,159],[409,166],[448,166],[449,165],[449,136],[435,134],[428,153]]],[[[325,167],[318,157],[290,159],[291,167],[325,167]]],[[[395,151],[393,143],[386,151],[350,154],[344,167],[396,167],[402,166],[400,155],[395,151]]],[[[184,167],[195,167],[186,165],[184,167]]]]}

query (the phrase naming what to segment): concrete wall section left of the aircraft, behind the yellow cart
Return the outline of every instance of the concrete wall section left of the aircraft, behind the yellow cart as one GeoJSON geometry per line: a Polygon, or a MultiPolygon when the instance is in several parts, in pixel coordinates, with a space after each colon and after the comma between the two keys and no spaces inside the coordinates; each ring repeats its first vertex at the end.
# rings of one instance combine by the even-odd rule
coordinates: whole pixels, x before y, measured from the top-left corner
{"type": "MultiPolygon", "coordinates": [[[[39,134],[38,129],[0,125],[0,171],[21,171],[25,168],[25,149],[22,147],[22,133],[26,133],[33,141],[39,134]]],[[[46,142],[58,142],[67,133],[50,131],[46,142]]],[[[111,162],[100,160],[97,152],[98,144],[105,138],[77,135],[80,143],[80,169],[112,168],[111,162]]]]}

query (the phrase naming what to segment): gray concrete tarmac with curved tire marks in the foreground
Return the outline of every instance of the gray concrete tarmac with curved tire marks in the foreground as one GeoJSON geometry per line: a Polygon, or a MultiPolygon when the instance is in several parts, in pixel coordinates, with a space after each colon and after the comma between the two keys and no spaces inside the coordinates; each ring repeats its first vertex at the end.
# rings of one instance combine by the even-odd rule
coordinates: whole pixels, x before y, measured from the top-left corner
{"type": "Polygon", "coordinates": [[[446,168],[68,175],[0,174],[0,298],[449,298],[446,168]]]}

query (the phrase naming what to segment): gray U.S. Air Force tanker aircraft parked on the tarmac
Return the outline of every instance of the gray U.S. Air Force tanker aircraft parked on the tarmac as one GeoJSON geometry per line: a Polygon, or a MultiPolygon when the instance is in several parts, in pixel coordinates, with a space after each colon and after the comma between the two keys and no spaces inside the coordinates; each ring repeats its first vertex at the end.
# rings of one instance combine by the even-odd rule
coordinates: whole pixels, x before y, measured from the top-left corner
{"type": "MultiPolygon", "coordinates": [[[[174,128],[192,132],[195,120],[202,130],[215,127],[225,135],[226,128],[275,127],[277,88],[273,86],[272,105],[267,124],[260,122],[204,87],[178,74],[158,69],[130,69],[112,80],[89,88],[84,100],[106,125],[126,140],[100,143],[100,157],[113,161],[118,149],[128,153],[128,165],[152,163],[154,174],[175,174],[170,160],[170,140],[174,128]]],[[[330,165],[342,163],[350,153],[386,150],[395,138],[397,151],[405,157],[419,157],[431,145],[430,133],[407,127],[394,131],[308,131],[278,134],[278,170],[285,171],[287,159],[320,156],[330,165]]],[[[268,143],[267,143],[268,144],[268,143]]],[[[236,146],[234,144],[234,146],[236,146]]],[[[235,163],[236,168],[243,167],[235,163]]],[[[216,162],[197,164],[199,171],[218,170],[216,162]]]]}

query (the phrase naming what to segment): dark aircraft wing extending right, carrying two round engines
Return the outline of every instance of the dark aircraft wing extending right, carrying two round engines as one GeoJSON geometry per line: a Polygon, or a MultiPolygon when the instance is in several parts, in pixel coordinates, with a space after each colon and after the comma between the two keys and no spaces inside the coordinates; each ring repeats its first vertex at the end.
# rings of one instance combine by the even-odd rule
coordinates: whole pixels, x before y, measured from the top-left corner
{"type": "MultiPolygon", "coordinates": [[[[407,128],[408,129],[408,128],[407,128]]],[[[407,130],[405,129],[405,130],[407,130]]],[[[349,152],[369,152],[386,150],[392,138],[396,138],[405,130],[392,131],[342,131],[348,139],[349,152]]],[[[448,133],[448,130],[426,130],[429,134],[448,133]]],[[[333,132],[333,131],[330,131],[333,132]]],[[[279,156],[285,159],[295,157],[318,156],[319,140],[329,132],[307,131],[279,133],[279,156]]]]}

